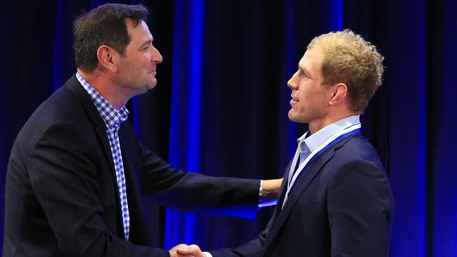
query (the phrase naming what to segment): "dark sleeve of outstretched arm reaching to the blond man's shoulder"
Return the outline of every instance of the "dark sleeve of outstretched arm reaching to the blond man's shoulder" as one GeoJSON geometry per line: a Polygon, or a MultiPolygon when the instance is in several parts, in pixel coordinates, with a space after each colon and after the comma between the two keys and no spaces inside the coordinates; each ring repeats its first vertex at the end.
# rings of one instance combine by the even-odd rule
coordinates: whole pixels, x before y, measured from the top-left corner
{"type": "Polygon", "coordinates": [[[181,211],[253,218],[260,180],[205,176],[174,169],[141,148],[141,193],[181,211]]]}

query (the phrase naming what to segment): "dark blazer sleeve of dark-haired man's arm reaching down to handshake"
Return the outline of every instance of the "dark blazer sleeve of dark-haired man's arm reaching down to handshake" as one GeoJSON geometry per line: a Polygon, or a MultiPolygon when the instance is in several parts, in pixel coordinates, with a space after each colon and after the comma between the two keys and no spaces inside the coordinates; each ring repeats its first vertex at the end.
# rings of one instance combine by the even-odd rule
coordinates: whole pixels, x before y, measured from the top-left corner
{"type": "Polygon", "coordinates": [[[117,238],[101,216],[99,177],[91,143],[77,126],[51,124],[30,152],[36,197],[65,256],[169,256],[117,238]]]}

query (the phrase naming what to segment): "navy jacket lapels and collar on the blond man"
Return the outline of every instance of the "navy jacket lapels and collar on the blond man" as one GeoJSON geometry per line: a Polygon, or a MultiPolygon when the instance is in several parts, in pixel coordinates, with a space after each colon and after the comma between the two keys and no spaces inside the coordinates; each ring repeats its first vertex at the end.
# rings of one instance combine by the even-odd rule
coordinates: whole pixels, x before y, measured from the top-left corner
{"type": "MultiPolygon", "coordinates": [[[[278,199],[278,203],[276,204],[276,209],[273,213],[273,218],[276,218],[276,221],[273,223],[269,230],[269,234],[266,237],[266,242],[264,244],[264,256],[266,256],[266,253],[269,251],[269,246],[271,246],[271,242],[273,242],[274,239],[276,239],[276,235],[278,235],[279,230],[281,230],[281,227],[285,223],[285,220],[287,220],[288,216],[290,215],[290,212],[292,211],[293,207],[295,206],[295,203],[297,200],[300,198],[300,195],[304,192],[304,190],[307,189],[309,184],[314,180],[316,175],[321,171],[323,166],[326,165],[326,163],[332,159],[332,157],[335,155],[335,151],[337,151],[340,147],[345,145],[348,140],[353,138],[356,135],[360,135],[360,133],[355,133],[352,136],[348,136],[347,138],[341,140],[340,142],[336,143],[333,145],[333,147],[328,148],[325,152],[323,152],[320,156],[318,156],[314,162],[309,165],[308,169],[304,172],[304,175],[299,178],[298,181],[296,181],[296,185],[294,190],[290,191],[290,194],[288,196],[287,202],[285,202],[283,209],[281,209],[281,206],[283,205],[283,200],[285,197],[285,193],[287,192],[287,180],[285,183],[283,182],[282,188],[281,188],[281,195],[278,199]],[[276,217],[275,217],[276,216],[276,217]]],[[[290,164],[289,164],[290,166],[290,164]]],[[[286,169],[285,176],[284,178],[288,177],[288,172],[290,169],[286,169]]]]}

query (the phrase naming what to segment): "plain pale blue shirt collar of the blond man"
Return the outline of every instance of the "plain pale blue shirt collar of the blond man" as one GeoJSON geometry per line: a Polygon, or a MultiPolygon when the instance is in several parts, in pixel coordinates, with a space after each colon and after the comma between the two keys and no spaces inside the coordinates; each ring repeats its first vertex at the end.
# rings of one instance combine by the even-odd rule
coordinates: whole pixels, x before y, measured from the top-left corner
{"type": "Polygon", "coordinates": [[[303,134],[303,136],[297,139],[297,143],[300,145],[304,141],[304,143],[307,144],[309,150],[314,152],[314,150],[316,150],[319,145],[322,145],[328,138],[335,135],[335,133],[338,133],[343,129],[349,128],[349,126],[354,126],[356,124],[360,124],[360,115],[352,115],[335,121],[308,137],[307,135],[309,131],[307,131],[303,134]]]}

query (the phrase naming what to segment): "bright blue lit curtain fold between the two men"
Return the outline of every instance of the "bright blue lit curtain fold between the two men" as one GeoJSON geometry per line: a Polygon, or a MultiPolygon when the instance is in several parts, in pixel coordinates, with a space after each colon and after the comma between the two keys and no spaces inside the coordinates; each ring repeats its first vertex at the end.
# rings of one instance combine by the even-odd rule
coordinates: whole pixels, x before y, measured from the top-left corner
{"type": "MultiPolygon", "coordinates": [[[[186,171],[199,171],[200,87],[203,1],[178,1],[175,13],[172,121],[169,162],[186,171]],[[185,44],[187,43],[187,44],[185,44]],[[184,89],[185,88],[185,89],[184,89]],[[184,90],[183,90],[184,89],[184,90]],[[182,93],[186,91],[186,93],[182,93]],[[184,120],[176,121],[176,119],[184,120]],[[176,136],[176,138],[174,138],[176,136]]],[[[195,242],[195,214],[167,209],[165,248],[195,242]]]]}

